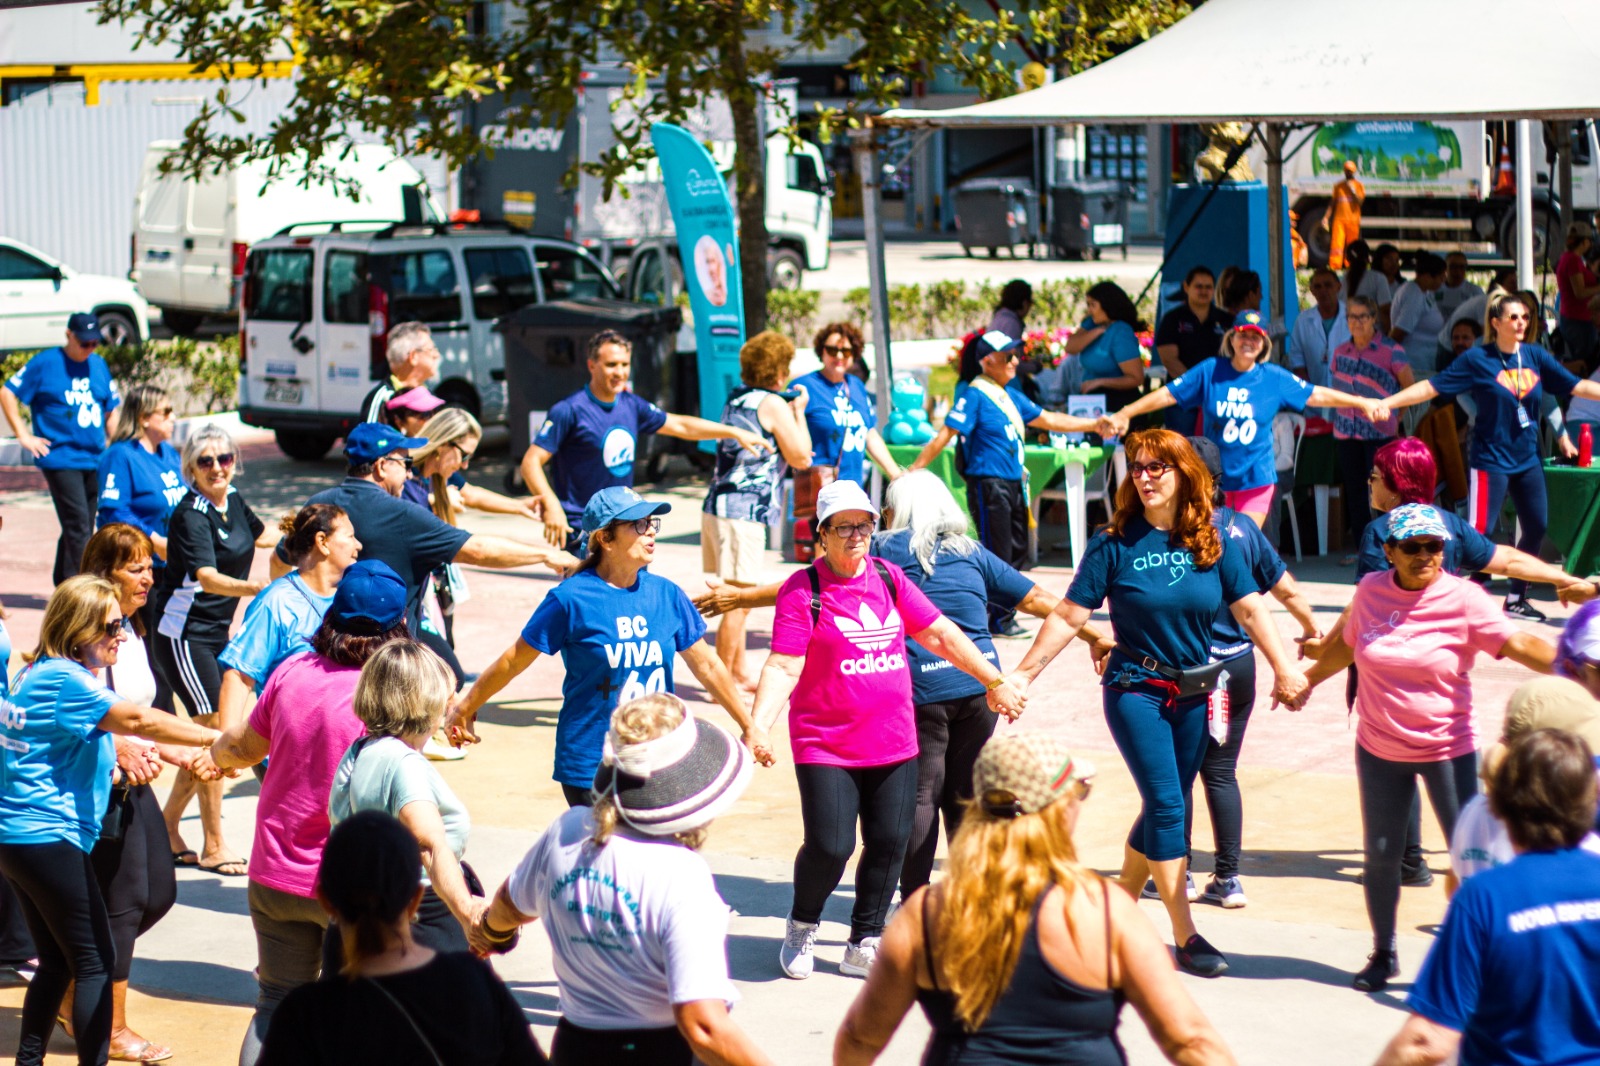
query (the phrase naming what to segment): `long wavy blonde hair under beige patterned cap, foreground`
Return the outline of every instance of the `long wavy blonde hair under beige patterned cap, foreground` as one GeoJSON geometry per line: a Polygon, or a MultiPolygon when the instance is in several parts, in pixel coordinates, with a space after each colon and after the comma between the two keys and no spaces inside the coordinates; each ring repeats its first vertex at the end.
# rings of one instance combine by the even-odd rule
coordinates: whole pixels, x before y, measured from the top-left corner
{"type": "Polygon", "coordinates": [[[1038,898],[1051,885],[1077,892],[1096,880],[1072,845],[1064,805],[1072,802],[1062,797],[1018,818],[997,818],[979,802],[966,804],[936,888],[941,906],[934,930],[939,975],[968,1032],[984,1024],[1011,983],[1038,898]]]}

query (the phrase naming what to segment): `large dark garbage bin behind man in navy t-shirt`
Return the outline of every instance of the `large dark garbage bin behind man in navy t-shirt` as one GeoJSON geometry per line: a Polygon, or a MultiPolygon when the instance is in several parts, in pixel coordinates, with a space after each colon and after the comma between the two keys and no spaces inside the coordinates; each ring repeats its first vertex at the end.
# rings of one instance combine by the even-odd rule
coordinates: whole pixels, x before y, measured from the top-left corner
{"type": "MultiPolygon", "coordinates": [[[[632,391],[667,411],[683,411],[674,387],[674,347],[683,312],[621,299],[582,296],[530,304],[504,315],[494,330],[506,338],[506,426],[520,461],[534,424],[558,400],[589,384],[589,338],[616,330],[634,344],[632,391]]],[[[720,415],[720,411],[718,411],[720,415]]],[[[715,418],[715,415],[714,415],[715,418]]]]}

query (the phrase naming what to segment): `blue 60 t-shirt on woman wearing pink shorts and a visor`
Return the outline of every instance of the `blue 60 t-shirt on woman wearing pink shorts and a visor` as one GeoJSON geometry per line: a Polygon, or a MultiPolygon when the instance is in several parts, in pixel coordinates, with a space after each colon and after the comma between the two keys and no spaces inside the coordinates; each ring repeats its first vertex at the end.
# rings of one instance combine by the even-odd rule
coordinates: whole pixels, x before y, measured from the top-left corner
{"type": "Polygon", "coordinates": [[[1222,488],[1227,491],[1277,483],[1272,419],[1283,408],[1304,411],[1315,387],[1275,363],[1256,363],[1238,373],[1234,362],[1221,355],[1166,386],[1182,407],[1198,407],[1205,416],[1205,435],[1222,451],[1222,488]]]}

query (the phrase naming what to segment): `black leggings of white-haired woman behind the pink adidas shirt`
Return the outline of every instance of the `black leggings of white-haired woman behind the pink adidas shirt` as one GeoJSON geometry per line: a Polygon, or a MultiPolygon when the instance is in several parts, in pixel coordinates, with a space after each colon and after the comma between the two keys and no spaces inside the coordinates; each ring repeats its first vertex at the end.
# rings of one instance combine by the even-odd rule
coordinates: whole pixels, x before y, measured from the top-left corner
{"type": "Polygon", "coordinates": [[[933,877],[939,815],[946,839],[962,826],[962,800],[973,797],[973,763],[1000,717],[986,695],[917,704],[917,813],[901,864],[901,900],[933,877]]]}

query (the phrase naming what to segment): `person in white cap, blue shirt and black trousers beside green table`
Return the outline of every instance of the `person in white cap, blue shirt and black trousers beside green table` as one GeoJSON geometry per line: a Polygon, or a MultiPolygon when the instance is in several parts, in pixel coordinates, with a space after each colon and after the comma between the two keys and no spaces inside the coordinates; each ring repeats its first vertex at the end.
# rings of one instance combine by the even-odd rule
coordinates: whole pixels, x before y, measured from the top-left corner
{"type": "MultiPolygon", "coordinates": [[[[966,479],[966,511],[978,525],[984,547],[1018,570],[1027,568],[1030,511],[1022,445],[1029,429],[1061,434],[1094,432],[1094,419],[1046,411],[1016,387],[1016,360],[1022,343],[992,330],[978,338],[981,375],[955,394],[944,426],[922,450],[912,471],[920,471],[962,439],[962,477],[966,479]]],[[[989,632],[1027,637],[1016,610],[989,607],[989,632]]]]}

